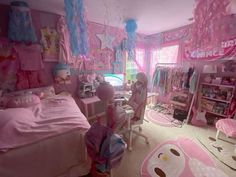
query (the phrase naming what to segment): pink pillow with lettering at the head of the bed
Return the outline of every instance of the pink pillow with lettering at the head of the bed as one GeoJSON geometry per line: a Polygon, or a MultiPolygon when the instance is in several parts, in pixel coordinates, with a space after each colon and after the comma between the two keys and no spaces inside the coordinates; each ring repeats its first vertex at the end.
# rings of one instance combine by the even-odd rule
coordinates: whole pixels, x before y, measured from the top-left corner
{"type": "Polygon", "coordinates": [[[7,108],[24,108],[40,103],[40,98],[34,94],[19,95],[9,99],[7,108]]]}

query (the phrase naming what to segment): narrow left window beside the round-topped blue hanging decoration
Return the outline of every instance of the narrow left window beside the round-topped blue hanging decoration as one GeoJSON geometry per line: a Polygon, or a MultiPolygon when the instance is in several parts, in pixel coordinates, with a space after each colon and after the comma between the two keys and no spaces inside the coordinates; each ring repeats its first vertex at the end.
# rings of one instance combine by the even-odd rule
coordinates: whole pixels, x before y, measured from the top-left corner
{"type": "Polygon", "coordinates": [[[126,80],[134,80],[140,71],[145,71],[145,50],[137,48],[134,60],[128,60],[126,57],[126,80]]]}

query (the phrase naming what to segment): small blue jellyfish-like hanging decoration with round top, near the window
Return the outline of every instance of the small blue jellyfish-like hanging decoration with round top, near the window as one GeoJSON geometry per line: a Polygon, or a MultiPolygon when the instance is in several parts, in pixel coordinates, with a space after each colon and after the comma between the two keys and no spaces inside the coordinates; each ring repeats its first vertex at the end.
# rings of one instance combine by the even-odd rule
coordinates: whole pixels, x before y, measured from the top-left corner
{"type": "Polygon", "coordinates": [[[125,22],[125,30],[127,32],[127,51],[128,51],[128,58],[134,59],[134,50],[136,44],[136,30],[137,30],[137,23],[134,19],[126,20],[125,22]]]}

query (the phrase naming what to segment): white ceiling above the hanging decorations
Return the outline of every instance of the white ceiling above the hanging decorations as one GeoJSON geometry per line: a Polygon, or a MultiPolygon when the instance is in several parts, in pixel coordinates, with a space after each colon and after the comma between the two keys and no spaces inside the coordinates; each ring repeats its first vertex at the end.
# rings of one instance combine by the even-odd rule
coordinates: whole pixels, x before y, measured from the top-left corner
{"type": "MultiPolygon", "coordinates": [[[[9,4],[12,0],[0,0],[9,4]]],[[[24,0],[32,9],[64,14],[64,0],[24,0]]],[[[90,21],[123,28],[124,21],[137,21],[138,32],[154,34],[192,21],[195,0],[84,0],[90,21]]]]}

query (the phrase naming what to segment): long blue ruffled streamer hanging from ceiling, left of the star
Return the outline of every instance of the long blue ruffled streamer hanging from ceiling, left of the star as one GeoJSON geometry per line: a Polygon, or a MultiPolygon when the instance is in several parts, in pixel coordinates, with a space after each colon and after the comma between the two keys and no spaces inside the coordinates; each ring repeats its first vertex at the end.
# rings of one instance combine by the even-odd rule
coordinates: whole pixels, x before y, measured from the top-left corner
{"type": "Polygon", "coordinates": [[[70,47],[74,56],[88,54],[87,27],[83,0],[64,0],[70,47]]]}

